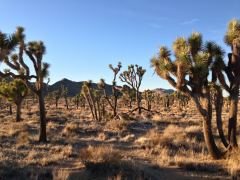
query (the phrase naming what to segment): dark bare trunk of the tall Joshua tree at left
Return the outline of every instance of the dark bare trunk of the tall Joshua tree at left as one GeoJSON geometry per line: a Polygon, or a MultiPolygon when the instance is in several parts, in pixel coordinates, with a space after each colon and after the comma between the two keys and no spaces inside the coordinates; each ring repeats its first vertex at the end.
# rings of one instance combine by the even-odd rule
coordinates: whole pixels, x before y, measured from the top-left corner
{"type": "Polygon", "coordinates": [[[43,92],[40,89],[38,94],[38,103],[39,103],[39,110],[40,110],[40,135],[39,141],[40,142],[47,142],[47,132],[46,132],[46,110],[45,110],[45,103],[44,103],[44,96],[43,92]]]}

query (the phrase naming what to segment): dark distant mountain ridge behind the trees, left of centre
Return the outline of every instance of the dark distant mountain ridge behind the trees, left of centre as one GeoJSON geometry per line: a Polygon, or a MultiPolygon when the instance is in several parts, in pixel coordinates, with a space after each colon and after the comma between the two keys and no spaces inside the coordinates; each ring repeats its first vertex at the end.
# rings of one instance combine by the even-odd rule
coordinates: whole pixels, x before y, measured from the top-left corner
{"type": "MultiPolygon", "coordinates": [[[[62,79],[60,81],[57,81],[56,83],[49,85],[48,86],[48,92],[53,92],[56,91],[58,89],[60,89],[60,87],[63,85],[64,87],[68,88],[68,96],[73,97],[75,95],[77,95],[78,93],[80,93],[82,86],[83,86],[84,81],[80,81],[80,82],[75,82],[75,81],[71,81],[69,79],[62,79]]],[[[97,84],[93,83],[93,88],[96,88],[97,84]]],[[[106,92],[107,94],[111,94],[112,93],[112,86],[106,84],[106,92]]]]}

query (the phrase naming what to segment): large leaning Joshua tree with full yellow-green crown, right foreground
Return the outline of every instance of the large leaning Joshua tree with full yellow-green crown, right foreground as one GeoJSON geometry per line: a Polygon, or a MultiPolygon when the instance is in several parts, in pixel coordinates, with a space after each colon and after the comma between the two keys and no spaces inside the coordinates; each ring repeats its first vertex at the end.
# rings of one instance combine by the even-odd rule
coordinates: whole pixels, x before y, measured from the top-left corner
{"type": "MultiPolygon", "coordinates": [[[[200,33],[192,33],[185,38],[177,38],[173,43],[175,60],[166,47],[161,47],[159,55],[151,60],[155,72],[167,80],[175,89],[191,97],[203,117],[203,134],[210,155],[218,159],[221,152],[215,143],[212,132],[212,98],[209,72],[216,72],[224,66],[223,51],[214,45],[212,52],[204,48],[200,33]],[[175,80],[176,79],[176,80],[175,80]]],[[[216,84],[217,85],[217,84],[216,84]]],[[[221,120],[221,119],[220,119],[221,120]]]]}

